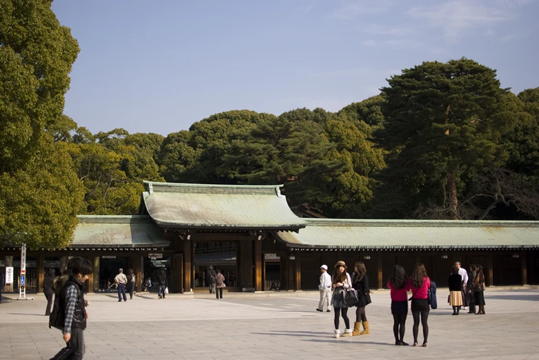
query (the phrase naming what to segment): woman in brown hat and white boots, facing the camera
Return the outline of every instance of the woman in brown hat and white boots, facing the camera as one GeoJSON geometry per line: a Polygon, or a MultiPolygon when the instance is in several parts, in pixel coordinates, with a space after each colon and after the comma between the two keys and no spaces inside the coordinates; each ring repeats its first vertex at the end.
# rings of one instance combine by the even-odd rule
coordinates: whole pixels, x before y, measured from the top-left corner
{"type": "Polygon", "coordinates": [[[335,335],[334,337],[337,339],[340,336],[343,337],[351,337],[352,336],[352,329],[350,329],[350,320],[348,319],[348,306],[345,302],[345,293],[347,290],[352,288],[352,279],[350,279],[350,275],[346,272],[346,264],[343,261],[338,261],[337,264],[334,266],[335,271],[333,273],[333,282],[332,282],[332,288],[333,288],[333,296],[332,296],[332,303],[333,308],[335,311],[335,318],[334,318],[334,324],[335,324],[335,335]],[[343,335],[340,335],[340,332],[338,330],[339,326],[339,317],[340,315],[343,316],[343,319],[345,321],[346,330],[343,333],[343,335]]]}

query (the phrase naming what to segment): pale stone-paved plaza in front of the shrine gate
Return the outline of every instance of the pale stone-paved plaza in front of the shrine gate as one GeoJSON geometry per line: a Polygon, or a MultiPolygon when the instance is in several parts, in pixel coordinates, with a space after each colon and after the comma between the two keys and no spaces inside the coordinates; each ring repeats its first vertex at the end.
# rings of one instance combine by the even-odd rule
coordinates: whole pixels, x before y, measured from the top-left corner
{"type": "MultiPolygon", "coordinates": [[[[539,290],[489,288],[487,315],[451,316],[447,289],[431,310],[429,346],[394,346],[387,290],[367,306],[371,335],[333,339],[333,313],[318,313],[316,292],[158,300],[144,293],[126,303],[88,295],[85,359],[539,359],[539,290]]],[[[14,298],[14,295],[8,295],[14,298]]],[[[0,359],[50,359],[63,346],[49,329],[45,299],[0,304],[0,359]]],[[[353,321],[352,317],[351,320],[353,321]]],[[[412,343],[411,314],[406,340],[412,343]]],[[[340,325],[344,328],[343,321],[340,325]]],[[[421,335],[418,341],[421,343],[421,335]]]]}

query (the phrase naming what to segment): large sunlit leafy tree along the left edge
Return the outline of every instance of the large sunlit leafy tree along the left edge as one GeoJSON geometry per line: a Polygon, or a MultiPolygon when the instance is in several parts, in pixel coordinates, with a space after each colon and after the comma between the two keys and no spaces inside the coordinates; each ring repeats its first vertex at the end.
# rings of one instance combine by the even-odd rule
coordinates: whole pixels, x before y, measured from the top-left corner
{"type": "Polygon", "coordinates": [[[45,128],[62,120],[79,45],[52,1],[0,0],[0,241],[69,243],[81,184],[45,128]]]}

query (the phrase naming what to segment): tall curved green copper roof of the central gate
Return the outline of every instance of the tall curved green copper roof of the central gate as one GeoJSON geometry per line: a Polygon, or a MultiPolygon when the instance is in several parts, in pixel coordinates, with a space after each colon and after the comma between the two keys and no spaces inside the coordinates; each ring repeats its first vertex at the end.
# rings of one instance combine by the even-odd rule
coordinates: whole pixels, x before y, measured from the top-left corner
{"type": "Polygon", "coordinates": [[[143,206],[163,227],[297,231],[306,224],[288,207],[283,185],[144,184],[143,206]]]}

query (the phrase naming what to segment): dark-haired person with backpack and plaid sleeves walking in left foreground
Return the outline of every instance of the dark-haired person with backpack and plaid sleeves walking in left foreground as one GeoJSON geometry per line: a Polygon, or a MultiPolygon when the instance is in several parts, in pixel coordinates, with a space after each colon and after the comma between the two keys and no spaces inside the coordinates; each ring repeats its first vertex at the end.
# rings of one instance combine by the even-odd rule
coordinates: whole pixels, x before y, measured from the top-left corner
{"type": "Polygon", "coordinates": [[[86,328],[88,313],[85,309],[84,282],[88,280],[93,271],[92,262],[82,257],[73,257],[68,263],[68,280],[63,285],[60,306],[65,311],[63,325],[63,341],[67,344],[52,360],[72,359],[79,360],[84,357],[85,345],[83,331],[86,328]]]}

